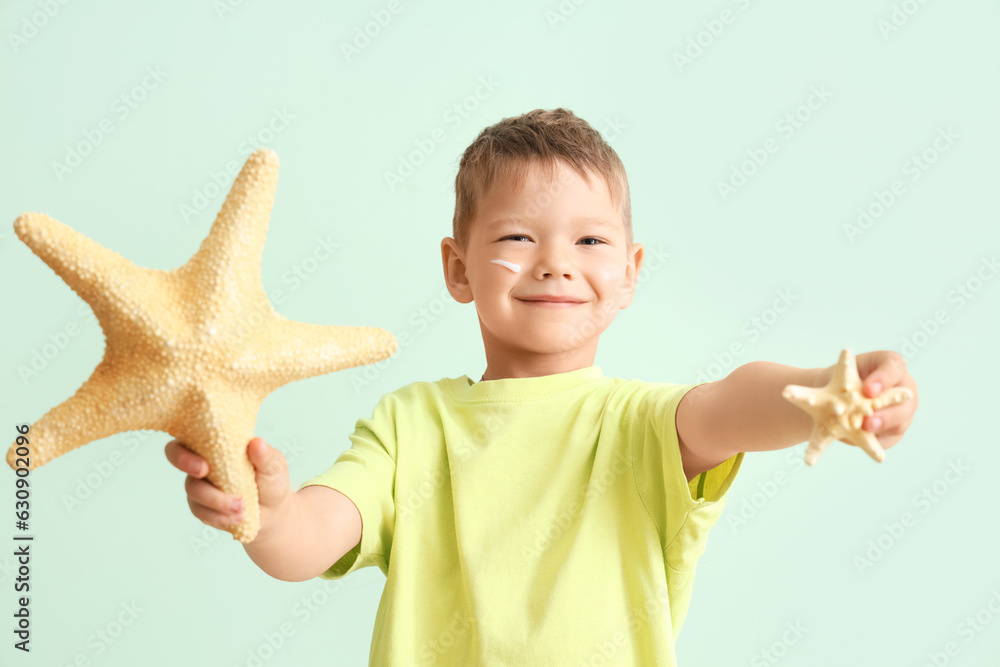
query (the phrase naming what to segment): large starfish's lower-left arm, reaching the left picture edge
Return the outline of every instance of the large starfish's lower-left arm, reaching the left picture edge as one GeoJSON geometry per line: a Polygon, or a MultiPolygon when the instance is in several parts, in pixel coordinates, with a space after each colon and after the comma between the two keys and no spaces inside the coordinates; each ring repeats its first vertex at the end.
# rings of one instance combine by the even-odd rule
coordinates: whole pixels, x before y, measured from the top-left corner
{"type": "MultiPolygon", "coordinates": [[[[125,431],[166,431],[160,415],[172,392],[150,392],[149,378],[120,377],[116,364],[105,357],[94,373],[68,399],[39,418],[29,430],[29,470],[94,440],[125,431]]],[[[15,467],[15,446],[7,451],[7,464],[15,467]]]]}

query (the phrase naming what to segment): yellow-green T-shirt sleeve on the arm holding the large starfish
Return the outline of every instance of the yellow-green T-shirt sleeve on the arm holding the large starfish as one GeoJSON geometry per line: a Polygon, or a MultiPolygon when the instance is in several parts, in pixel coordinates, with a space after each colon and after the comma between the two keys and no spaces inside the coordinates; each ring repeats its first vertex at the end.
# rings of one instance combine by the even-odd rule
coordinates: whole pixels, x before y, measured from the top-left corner
{"type": "Polygon", "coordinates": [[[371,418],[359,419],[351,447],[341,452],[326,472],[303,482],[299,489],[320,484],[340,491],[361,513],[361,542],[329,569],[322,579],[340,579],[363,567],[377,565],[388,575],[396,524],[396,426],[394,397],[386,394],[371,418]]]}

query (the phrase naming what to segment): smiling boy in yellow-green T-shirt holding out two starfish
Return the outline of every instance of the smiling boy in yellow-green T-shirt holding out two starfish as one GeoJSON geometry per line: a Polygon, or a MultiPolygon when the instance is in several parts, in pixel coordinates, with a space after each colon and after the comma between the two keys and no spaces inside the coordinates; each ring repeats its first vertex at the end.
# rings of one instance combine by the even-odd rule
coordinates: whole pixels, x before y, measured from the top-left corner
{"type": "MultiPolygon", "coordinates": [[[[282,454],[251,440],[261,528],[246,552],[285,581],[377,565],[372,665],[674,665],[744,452],[808,439],[811,418],[781,389],[821,386],[830,369],[753,362],[700,385],[605,377],[598,337],[631,304],[643,247],[621,161],[572,112],[483,130],[455,187],[445,280],[476,304],[485,373],[386,394],[296,493],[282,454]]],[[[857,366],[869,397],[874,383],[914,391],[864,425],[888,448],[916,385],[892,352],[857,366]]],[[[166,453],[190,473],[195,516],[241,519],[202,479],[204,459],[176,441],[166,453]]]]}

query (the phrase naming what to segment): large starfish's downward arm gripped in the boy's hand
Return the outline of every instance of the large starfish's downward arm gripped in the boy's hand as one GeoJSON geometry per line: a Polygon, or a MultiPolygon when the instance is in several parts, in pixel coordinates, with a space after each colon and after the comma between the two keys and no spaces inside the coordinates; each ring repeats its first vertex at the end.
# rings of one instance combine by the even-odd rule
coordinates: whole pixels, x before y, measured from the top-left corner
{"type": "Polygon", "coordinates": [[[247,456],[261,397],[225,380],[204,383],[186,394],[167,432],[202,456],[205,477],[223,492],[243,498],[243,521],[223,528],[240,542],[253,541],[260,530],[257,473],[247,456]]]}

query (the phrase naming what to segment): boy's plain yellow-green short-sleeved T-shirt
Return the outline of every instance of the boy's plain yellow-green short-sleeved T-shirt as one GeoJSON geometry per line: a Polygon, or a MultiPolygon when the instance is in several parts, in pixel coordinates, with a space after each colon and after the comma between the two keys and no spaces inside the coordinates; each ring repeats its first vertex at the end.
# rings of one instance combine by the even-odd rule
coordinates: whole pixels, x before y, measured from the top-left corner
{"type": "Polygon", "coordinates": [[[675,665],[743,460],[685,479],[674,417],[695,386],[589,366],[385,394],[300,487],[361,513],[360,544],[320,576],[386,575],[370,664],[675,665]]]}

